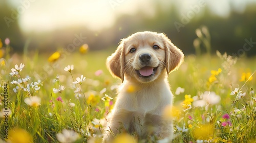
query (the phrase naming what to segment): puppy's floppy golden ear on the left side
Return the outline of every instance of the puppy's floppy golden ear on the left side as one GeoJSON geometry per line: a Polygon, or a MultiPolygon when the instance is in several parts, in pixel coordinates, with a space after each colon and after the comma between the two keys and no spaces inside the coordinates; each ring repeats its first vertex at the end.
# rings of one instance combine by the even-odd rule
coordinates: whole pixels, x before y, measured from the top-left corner
{"type": "Polygon", "coordinates": [[[106,59],[106,66],[114,77],[122,80],[124,78],[124,41],[122,40],[117,47],[115,53],[106,59]]]}

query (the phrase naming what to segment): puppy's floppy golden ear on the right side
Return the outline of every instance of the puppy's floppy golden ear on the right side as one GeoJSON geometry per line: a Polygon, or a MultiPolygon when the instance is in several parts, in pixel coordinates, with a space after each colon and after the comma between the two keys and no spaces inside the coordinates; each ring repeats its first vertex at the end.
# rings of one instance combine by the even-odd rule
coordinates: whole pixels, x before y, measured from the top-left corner
{"type": "Polygon", "coordinates": [[[170,39],[162,33],[165,45],[165,64],[167,74],[179,68],[184,60],[184,54],[170,39]]]}

